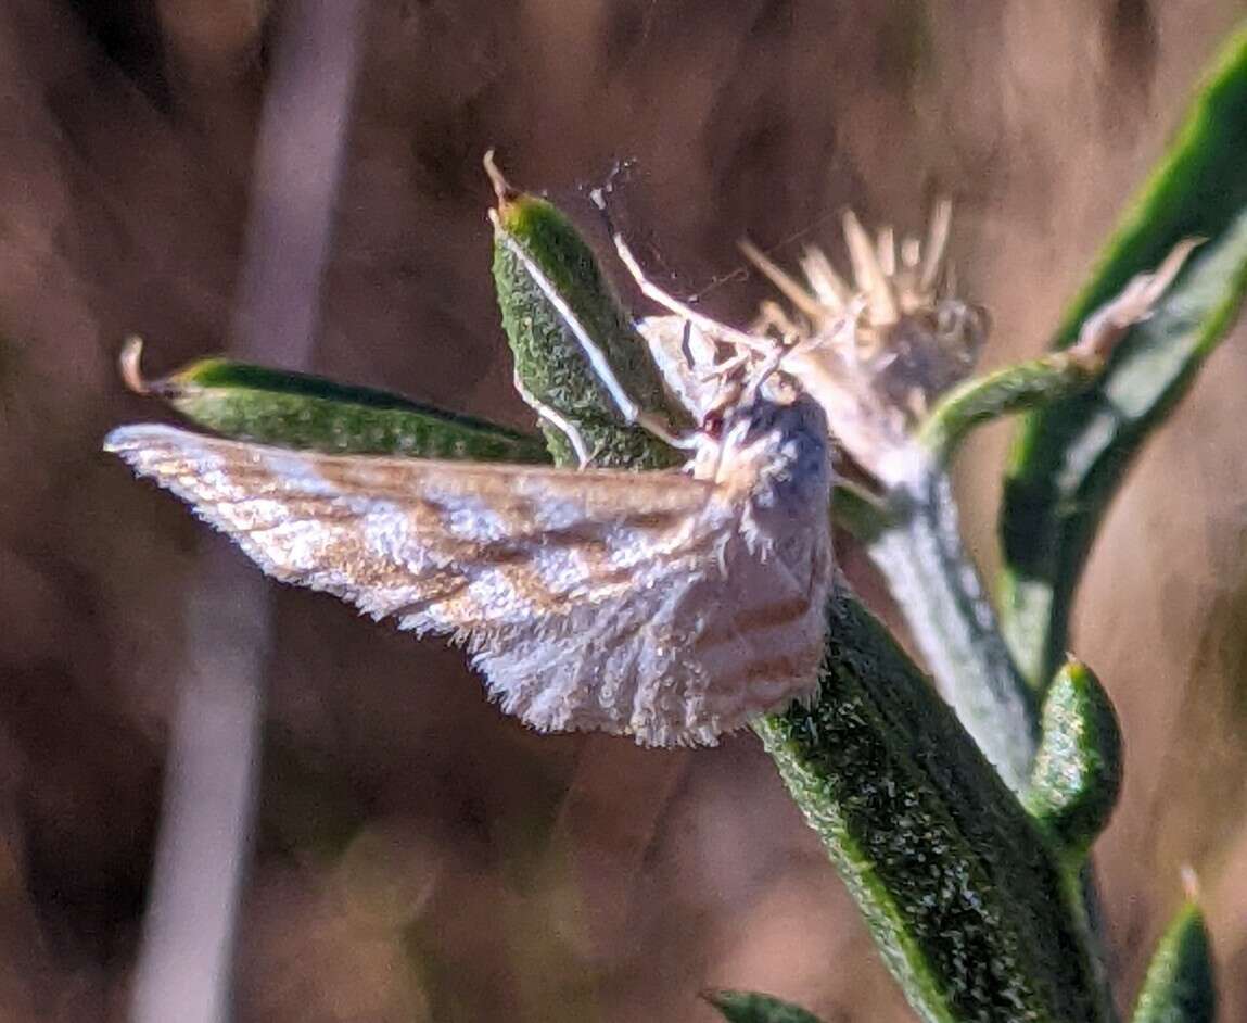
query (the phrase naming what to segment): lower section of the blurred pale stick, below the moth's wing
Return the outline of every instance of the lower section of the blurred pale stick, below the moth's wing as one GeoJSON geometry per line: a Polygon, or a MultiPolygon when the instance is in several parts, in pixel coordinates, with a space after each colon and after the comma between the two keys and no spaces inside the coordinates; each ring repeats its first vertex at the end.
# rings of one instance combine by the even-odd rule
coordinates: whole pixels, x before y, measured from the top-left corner
{"type": "Polygon", "coordinates": [[[135,1023],[222,1023],[232,1016],[268,650],[268,605],[251,575],[229,551],[206,551],[186,599],[186,662],[135,968],[135,1023]]]}

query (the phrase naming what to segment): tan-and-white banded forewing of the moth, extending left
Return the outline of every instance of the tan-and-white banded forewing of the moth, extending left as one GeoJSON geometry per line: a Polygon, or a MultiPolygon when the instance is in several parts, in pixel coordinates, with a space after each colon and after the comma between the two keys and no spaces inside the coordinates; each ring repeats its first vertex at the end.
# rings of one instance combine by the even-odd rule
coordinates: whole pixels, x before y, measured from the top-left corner
{"type": "Polygon", "coordinates": [[[627,584],[637,551],[678,559],[705,539],[691,518],[715,518],[713,487],[676,474],[320,455],[162,425],[122,427],[105,447],[271,575],[378,618],[431,601],[439,616],[409,610],[408,628],[436,631],[594,603],[627,584]],[[473,590],[488,603],[474,609],[473,590]]]}

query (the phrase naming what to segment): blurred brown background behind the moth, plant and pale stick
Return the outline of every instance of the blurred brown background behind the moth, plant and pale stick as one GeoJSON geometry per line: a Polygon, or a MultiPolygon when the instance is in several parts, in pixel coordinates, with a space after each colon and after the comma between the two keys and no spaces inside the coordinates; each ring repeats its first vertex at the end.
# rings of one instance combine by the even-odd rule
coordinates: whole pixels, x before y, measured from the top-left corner
{"type": "MultiPolygon", "coordinates": [[[[1201,67],[1223,0],[377,0],[311,368],[516,425],[486,147],[655,276],[744,318],[748,233],[840,256],[837,215],[958,198],[989,366],[1036,352],[1201,67]]],[[[187,594],[206,541],[100,439],[125,333],[152,372],[226,347],[281,4],[0,4],[0,1018],[123,1018],[187,594]]],[[[1245,155],[1247,158],[1247,155],[1245,155]]],[[[617,274],[619,276],[619,274],[617,274]]],[[[636,302],[636,308],[642,308],[636,302]]],[[[1146,453],[1076,644],[1119,702],[1099,846],[1132,997],[1193,863],[1225,1019],[1247,1016],[1247,337],[1146,453]]],[[[1008,430],[965,460],[990,570],[1008,430]]],[[[221,555],[218,555],[221,556],[221,555]]],[[[224,555],[233,556],[233,555],[224,555]]],[[[749,736],[697,754],[539,737],[460,654],[273,593],[239,1021],[702,1019],[705,987],[907,1019],[749,736]]]]}

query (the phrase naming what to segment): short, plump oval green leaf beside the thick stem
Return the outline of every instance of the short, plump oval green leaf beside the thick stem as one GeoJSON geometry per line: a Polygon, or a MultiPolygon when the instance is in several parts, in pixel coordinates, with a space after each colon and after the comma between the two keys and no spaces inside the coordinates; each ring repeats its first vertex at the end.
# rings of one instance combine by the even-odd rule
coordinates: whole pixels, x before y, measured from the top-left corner
{"type": "Polygon", "coordinates": [[[1074,860],[1096,840],[1121,792],[1121,727],[1100,680],[1072,657],[1044,699],[1042,740],[1026,808],[1074,860]]]}

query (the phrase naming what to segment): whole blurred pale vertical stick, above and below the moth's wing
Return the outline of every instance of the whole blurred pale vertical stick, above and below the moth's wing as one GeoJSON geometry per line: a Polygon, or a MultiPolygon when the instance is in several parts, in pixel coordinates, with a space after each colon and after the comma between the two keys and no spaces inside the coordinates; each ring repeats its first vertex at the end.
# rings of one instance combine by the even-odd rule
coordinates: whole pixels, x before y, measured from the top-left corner
{"type": "MultiPolygon", "coordinates": [[[[306,367],[319,319],[362,36],[362,0],[282,16],[256,148],[234,351],[306,367]]],[[[136,1023],[231,1018],[233,948],[259,764],[269,606],[259,573],[213,545],[187,601],[187,665],[135,972],[136,1023]]]]}

